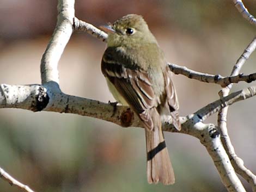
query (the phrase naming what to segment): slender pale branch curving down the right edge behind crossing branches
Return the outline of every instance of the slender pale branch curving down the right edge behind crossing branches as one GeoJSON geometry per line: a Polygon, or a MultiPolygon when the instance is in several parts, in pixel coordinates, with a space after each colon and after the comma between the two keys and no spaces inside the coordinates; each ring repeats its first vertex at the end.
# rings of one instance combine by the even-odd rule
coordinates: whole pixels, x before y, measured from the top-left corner
{"type": "MultiPolygon", "coordinates": [[[[250,44],[246,47],[245,51],[242,53],[240,58],[237,59],[236,64],[234,65],[233,70],[231,71],[231,76],[235,76],[239,73],[243,64],[245,64],[246,60],[249,58],[249,55],[251,55],[252,51],[254,51],[255,42],[256,42],[256,38],[254,38],[250,42],[250,44]]],[[[223,98],[227,96],[232,86],[233,84],[229,84],[225,88],[221,89],[221,91],[219,92],[220,97],[223,98]]],[[[248,183],[251,184],[252,189],[255,192],[256,176],[243,165],[243,160],[237,157],[235,153],[235,149],[231,144],[231,140],[230,140],[230,137],[228,134],[228,128],[227,128],[227,114],[228,114],[228,106],[222,108],[218,113],[218,127],[220,128],[220,132],[221,132],[222,144],[225,148],[225,151],[227,151],[229,159],[231,159],[231,164],[234,166],[237,174],[241,175],[244,179],[246,179],[246,181],[248,181],[248,183]]]]}

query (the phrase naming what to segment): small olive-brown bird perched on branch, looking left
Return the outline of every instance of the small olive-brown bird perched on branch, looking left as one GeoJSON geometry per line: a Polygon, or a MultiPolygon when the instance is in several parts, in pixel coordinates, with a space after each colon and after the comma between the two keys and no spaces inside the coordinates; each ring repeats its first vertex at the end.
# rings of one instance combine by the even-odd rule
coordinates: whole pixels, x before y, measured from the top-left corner
{"type": "Polygon", "coordinates": [[[115,100],[142,120],[147,147],[148,182],[173,184],[172,164],[163,137],[161,116],[181,129],[171,71],[148,24],[129,14],[102,29],[108,33],[101,71],[115,100]]]}

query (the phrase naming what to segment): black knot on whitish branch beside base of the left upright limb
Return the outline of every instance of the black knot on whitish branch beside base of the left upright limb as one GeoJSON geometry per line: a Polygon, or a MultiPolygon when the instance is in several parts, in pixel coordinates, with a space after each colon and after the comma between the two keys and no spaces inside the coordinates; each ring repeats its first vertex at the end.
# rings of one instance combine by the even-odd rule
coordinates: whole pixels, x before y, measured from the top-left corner
{"type": "Polygon", "coordinates": [[[44,109],[50,98],[46,92],[46,89],[43,86],[39,86],[39,89],[36,91],[35,100],[32,102],[31,109],[33,112],[40,112],[44,109]]]}

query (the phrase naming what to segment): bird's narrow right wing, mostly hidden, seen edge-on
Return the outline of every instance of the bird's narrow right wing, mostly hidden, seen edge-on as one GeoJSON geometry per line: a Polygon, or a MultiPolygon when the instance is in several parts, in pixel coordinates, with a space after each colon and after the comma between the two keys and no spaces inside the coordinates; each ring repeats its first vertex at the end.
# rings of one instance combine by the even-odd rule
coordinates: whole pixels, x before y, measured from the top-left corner
{"type": "Polygon", "coordinates": [[[179,121],[179,102],[176,96],[175,88],[171,79],[172,72],[170,71],[169,67],[166,66],[166,70],[163,73],[164,81],[166,82],[166,95],[167,95],[167,107],[170,110],[170,115],[172,116],[173,125],[176,129],[180,131],[181,125],[179,121]]]}

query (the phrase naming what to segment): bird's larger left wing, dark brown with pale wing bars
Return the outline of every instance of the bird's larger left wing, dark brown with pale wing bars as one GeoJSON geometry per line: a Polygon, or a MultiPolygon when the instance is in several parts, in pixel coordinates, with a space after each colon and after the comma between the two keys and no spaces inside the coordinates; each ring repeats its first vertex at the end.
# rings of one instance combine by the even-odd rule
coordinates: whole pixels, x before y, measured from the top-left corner
{"type": "Polygon", "coordinates": [[[154,122],[150,115],[150,109],[157,106],[156,97],[152,88],[151,80],[147,73],[141,69],[126,67],[123,62],[131,62],[119,52],[113,54],[113,49],[107,48],[102,61],[101,71],[103,75],[115,86],[119,94],[124,97],[129,106],[142,119],[145,126],[152,130],[154,122]],[[117,58],[114,58],[117,57],[117,58]],[[122,59],[123,60],[120,60],[122,59]]]}

